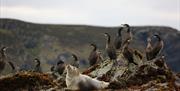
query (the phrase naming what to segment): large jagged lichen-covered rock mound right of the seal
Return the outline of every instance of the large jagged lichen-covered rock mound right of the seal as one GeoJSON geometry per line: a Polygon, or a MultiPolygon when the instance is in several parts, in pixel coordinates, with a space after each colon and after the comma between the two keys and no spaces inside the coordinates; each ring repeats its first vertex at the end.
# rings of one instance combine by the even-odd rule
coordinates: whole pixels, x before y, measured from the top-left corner
{"type": "Polygon", "coordinates": [[[173,81],[173,72],[167,67],[165,60],[161,57],[146,61],[134,55],[134,61],[138,65],[128,65],[128,61],[120,53],[116,65],[113,65],[113,61],[109,59],[104,60],[87,75],[110,82],[109,89],[130,88],[132,86],[137,86],[138,89],[177,89],[176,84],[173,84],[175,83],[175,80],[173,81]],[[150,85],[150,82],[158,85],[153,87],[150,85]],[[144,86],[145,84],[148,84],[148,86],[144,86]]]}

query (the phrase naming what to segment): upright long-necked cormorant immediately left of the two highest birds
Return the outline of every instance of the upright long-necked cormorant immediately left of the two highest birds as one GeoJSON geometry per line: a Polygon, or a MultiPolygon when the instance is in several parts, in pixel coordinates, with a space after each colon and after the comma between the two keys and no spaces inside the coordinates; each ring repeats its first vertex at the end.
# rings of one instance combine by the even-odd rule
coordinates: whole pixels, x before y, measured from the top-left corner
{"type": "Polygon", "coordinates": [[[104,35],[107,37],[106,39],[106,52],[111,60],[116,60],[116,49],[111,44],[111,36],[108,33],[104,33],[104,35]]]}

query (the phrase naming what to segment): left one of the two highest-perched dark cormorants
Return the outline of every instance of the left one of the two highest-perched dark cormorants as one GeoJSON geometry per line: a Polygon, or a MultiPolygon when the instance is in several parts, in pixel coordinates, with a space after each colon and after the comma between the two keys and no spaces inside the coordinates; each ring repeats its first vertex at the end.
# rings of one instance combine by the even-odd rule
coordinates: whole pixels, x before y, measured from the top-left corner
{"type": "Polygon", "coordinates": [[[120,49],[121,48],[121,43],[122,43],[122,36],[121,36],[121,31],[122,31],[122,27],[119,28],[117,36],[114,40],[114,46],[116,49],[120,49]]]}

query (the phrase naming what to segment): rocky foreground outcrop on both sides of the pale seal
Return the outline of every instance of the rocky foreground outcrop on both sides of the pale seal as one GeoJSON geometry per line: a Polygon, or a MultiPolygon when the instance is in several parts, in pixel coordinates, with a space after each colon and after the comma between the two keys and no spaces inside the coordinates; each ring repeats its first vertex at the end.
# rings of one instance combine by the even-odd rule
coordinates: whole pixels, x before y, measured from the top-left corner
{"type": "MultiPolygon", "coordinates": [[[[106,58],[84,72],[92,78],[110,82],[107,89],[121,90],[176,90],[180,89],[180,76],[174,74],[167,67],[164,58],[157,57],[153,60],[140,60],[134,55],[138,65],[129,64],[119,53],[117,65],[106,58]]],[[[17,72],[0,78],[0,87],[3,91],[14,89],[32,90],[64,90],[65,74],[57,79],[52,74],[36,72],[17,72]]]]}

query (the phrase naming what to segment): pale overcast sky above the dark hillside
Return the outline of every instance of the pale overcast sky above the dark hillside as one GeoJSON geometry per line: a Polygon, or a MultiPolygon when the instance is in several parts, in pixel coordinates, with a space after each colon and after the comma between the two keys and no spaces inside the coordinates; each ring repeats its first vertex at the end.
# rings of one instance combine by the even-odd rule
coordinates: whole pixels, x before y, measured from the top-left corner
{"type": "Polygon", "coordinates": [[[0,17],[35,23],[164,25],[180,30],[180,0],[0,0],[0,17]]]}

